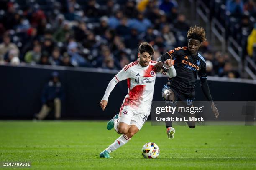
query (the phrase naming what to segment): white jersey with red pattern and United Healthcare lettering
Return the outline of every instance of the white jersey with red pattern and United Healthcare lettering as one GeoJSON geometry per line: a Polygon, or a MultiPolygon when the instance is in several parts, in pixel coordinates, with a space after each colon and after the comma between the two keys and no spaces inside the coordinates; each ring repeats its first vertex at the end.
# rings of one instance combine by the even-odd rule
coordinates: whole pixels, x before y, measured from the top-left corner
{"type": "MultiPolygon", "coordinates": [[[[127,106],[131,110],[148,111],[149,115],[156,81],[156,72],[153,70],[156,63],[156,61],[151,61],[147,67],[142,67],[138,59],[126,65],[110,81],[103,100],[108,100],[110,92],[118,82],[127,80],[128,94],[125,96],[120,110],[122,110],[122,107],[127,106]]],[[[166,70],[162,74],[167,73],[170,77],[175,77],[175,75],[173,76],[174,72],[176,75],[176,71],[172,66],[172,69],[166,70]]]]}

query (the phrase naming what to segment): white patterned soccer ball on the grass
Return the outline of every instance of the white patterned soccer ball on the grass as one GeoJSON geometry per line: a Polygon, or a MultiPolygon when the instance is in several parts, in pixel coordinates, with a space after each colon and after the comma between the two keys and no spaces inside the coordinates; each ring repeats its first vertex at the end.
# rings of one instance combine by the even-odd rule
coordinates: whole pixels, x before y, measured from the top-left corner
{"type": "Polygon", "coordinates": [[[159,147],[155,143],[149,142],[149,143],[146,143],[142,147],[141,153],[144,158],[153,158],[154,159],[159,156],[160,150],[159,150],[159,147]]]}

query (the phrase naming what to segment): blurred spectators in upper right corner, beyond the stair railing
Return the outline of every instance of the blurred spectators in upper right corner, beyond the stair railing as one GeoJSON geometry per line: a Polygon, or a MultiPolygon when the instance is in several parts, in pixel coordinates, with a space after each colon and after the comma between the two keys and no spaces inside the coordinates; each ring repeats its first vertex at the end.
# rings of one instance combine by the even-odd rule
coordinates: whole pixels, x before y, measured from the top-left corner
{"type": "Polygon", "coordinates": [[[248,55],[256,62],[256,0],[204,1],[231,36],[242,47],[243,57],[248,55]]]}

